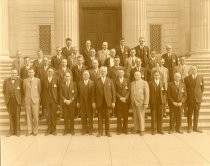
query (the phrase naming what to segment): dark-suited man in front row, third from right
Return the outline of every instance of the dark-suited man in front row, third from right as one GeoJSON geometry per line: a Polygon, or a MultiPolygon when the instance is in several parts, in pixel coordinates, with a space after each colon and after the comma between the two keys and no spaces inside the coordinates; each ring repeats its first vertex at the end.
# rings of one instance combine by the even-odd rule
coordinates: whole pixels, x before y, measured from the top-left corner
{"type": "Polygon", "coordinates": [[[149,83],[150,89],[150,108],[151,108],[151,129],[152,135],[162,131],[163,110],[162,105],[166,98],[166,89],[164,83],[160,80],[160,71],[153,72],[153,78],[149,83]]]}

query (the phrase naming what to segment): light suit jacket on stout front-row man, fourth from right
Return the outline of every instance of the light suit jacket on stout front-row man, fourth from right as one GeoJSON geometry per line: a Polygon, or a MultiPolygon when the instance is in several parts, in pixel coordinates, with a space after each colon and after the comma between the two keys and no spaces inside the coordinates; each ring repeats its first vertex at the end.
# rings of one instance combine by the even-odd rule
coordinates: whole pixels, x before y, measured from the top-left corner
{"type": "Polygon", "coordinates": [[[149,104],[149,85],[144,80],[131,83],[131,105],[142,106],[149,104]]]}

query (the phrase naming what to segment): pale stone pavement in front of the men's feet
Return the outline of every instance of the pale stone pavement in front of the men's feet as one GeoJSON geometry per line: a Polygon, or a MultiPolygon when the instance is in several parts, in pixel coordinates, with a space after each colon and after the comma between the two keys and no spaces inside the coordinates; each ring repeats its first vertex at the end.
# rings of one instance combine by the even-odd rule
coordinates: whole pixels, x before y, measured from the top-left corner
{"type": "Polygon", "coordinates": [[[1,137],[2,166],[210,166],[210,132],[1,137]]]}

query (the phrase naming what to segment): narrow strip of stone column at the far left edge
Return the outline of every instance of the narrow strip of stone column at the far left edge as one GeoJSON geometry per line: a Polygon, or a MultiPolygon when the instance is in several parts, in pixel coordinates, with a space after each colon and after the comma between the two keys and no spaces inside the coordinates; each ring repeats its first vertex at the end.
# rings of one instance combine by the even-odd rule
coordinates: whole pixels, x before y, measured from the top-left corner
{"type": "Polygon", "coordinates": [[[9,59],[8,0],[0,1],[0,59],[9,59]]]}

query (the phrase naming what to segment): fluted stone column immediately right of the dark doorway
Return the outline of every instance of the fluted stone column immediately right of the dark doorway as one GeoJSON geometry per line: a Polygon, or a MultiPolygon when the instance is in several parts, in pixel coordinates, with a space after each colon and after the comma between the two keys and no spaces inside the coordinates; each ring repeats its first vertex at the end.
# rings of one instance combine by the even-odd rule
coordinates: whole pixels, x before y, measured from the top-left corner
{"type": "Polygon", "coordinates": [[[122,32],[131,47],[146,38],[146,0],[122,0],[122,32]]]}

